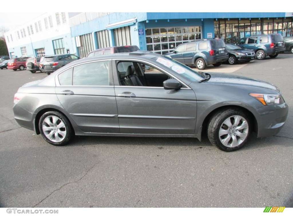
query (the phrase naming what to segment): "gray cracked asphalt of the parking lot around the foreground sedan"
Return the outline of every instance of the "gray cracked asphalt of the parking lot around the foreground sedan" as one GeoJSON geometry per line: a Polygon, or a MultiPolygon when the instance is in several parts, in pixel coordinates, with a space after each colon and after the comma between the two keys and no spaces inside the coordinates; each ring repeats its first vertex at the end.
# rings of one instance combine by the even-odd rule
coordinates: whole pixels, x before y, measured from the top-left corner
{"type": "Polygon", "coordinates": [[[0,70],[0,207],[293,207],[292,63],[285,53],[203,71],[270,82],[289,105],[279,134],[252,134],[229,153],[206,137],[77,136],[50,145],[12,111],[18,87],[47,75],[0,70]]]}

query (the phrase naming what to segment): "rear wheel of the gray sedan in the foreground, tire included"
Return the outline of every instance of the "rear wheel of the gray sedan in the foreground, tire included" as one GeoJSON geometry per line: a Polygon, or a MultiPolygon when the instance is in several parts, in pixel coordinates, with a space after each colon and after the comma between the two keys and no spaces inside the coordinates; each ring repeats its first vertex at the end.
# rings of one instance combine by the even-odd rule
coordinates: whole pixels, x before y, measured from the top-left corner
{"type": "Polygon", "coordinates": [[[58,111],[43,114],[39,121],[39,129],[45,141],[55,146],[66,145],[74,136],[70,122],[58,111]]]}

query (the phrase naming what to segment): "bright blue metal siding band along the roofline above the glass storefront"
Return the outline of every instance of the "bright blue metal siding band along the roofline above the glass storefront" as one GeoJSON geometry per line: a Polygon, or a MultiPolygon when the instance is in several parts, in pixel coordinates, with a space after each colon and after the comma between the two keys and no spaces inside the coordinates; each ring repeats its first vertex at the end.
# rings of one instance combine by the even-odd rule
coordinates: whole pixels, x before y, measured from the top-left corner
{"type": "Polygon", "coordinates": [[[185,18],[277,18],[285,12],[147,12],[147,20],[185,18]]]}

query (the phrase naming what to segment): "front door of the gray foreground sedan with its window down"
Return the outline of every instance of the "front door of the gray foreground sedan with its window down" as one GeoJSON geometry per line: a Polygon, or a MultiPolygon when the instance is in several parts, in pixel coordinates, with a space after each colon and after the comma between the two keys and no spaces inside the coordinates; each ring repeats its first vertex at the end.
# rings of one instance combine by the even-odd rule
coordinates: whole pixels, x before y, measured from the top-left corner
{"type": "Polygon", "coordinates": [[[179,90],[165,90],[163,81],[172,76],[143,62],[113,61],[113,76],[117,79],[115,96],[120,133],[194,134],[196,97],[192,89],[186,87],[179,90]],[[138,86],[136,83],[126,86],[123,83],[124,79],[120,75],[125,75],[121,72],[123,69],[121,67],[125,64],[133,66],[127,68],[133,70],[127,75],[132,75],[136,78],[133,81],[139,80],[143,86],[138,86]]]}

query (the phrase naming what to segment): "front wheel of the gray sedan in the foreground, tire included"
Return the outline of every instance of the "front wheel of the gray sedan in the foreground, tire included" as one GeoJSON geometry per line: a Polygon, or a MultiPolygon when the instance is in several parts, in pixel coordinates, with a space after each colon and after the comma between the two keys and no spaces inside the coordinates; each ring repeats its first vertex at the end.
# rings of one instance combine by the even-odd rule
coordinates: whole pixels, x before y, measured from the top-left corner
{"type": "Polygon", "coordinates": [[[209,141],[223,151],[234,151],[243,147],[251,132],[248,115],[237,109],[218,111],[209,121],[209,141]],[[240,129],[239,129],[240,128],[240,129]]]}

